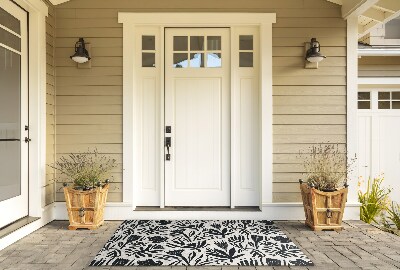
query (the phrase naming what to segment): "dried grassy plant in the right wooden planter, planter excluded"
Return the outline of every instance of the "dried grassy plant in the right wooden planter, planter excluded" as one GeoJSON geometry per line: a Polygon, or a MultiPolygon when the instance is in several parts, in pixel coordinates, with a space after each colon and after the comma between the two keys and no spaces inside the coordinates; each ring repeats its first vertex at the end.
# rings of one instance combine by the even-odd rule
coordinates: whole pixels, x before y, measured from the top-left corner
{"type": "Polygon", "coordinates": [[[355,159],[347,161],[347,153],[338,144],[317,144],[309,151],[300,151],[304,160],[304,175],[310,186],[322,191],[333,191],[347,185],[355,159]]]}

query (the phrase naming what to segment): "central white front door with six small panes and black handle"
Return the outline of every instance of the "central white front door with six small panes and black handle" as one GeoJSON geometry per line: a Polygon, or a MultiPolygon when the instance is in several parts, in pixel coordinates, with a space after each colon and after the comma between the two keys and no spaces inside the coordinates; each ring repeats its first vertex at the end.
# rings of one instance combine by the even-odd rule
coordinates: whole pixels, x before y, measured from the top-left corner
{"type": "Polygon", "coordinates": [[[165,31],[166,206],[230,205],[229,58],[227,28],[165,31]]]}

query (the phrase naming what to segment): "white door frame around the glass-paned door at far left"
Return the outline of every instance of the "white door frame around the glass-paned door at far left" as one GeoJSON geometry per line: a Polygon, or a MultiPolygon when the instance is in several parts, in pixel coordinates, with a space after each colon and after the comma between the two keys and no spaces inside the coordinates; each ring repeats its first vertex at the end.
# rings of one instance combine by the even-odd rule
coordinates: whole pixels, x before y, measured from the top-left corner
{"type": "Polygon", "coordinates": [[[43,217],[46,183],[46,17],[41,0],[13,0],[28,12],[29,173],[28,215],[43,217]],[[42,199],[43,198],[43,199],[42,199]]]}

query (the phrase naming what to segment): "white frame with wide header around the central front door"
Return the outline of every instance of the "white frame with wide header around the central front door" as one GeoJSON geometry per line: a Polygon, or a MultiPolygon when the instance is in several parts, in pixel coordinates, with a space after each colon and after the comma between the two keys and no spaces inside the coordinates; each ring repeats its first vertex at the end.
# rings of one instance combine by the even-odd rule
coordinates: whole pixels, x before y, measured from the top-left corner
{"type": "MultiPolygon", "coordinates": [[[[135,96],[138,95],[134,83],[135,63],[135,31],[137,26],[157,26],[161,37],[164,39],[163,29],[166,27],[237,27],[257,26],[260,38],[260,67],[259,67],[259,89],[260,100],[260,129],[261,129],[261,189],[260,208],[263,204],[272,203],[272,24],[276,22],[275,13],[118,13],[118,22],[123,24],[123,202],[132,205],[135,209],[137,204],[138,187],[141,179],[141,123],[140,115],[136,112],[140,106],[135,96]]],[[[232,43],[232,41],[231,41],[232,43]]],[[[231,51],[232,59],[232,51],[231,51]]],[[[161,89],[164,90],[164,51],[161,50],[161,89]]],[[[231,72],[233,74],[233,72],[231,72]]],[[[231,88],[235,85],[231,76],[231,88]]],[[[162,91],[163,92],[163,91],[162,91]]],[[[161,100],[164,96],[161,97],[161,100]]],[[[164,111],[163,104],[161,111],[164,111]]],[[[162,120],[162,127],[163,125],[162,120]]],[[[162,134],[163,132],[163,128],[162,134]]],[[[163,135],[160,135],[160,143],[163,144],[163,135]]],[[[162,157],[164,158],[163,154],[162,157]]],[[[232,157],[231,157],[232,159],[232,157]]],[[[232,165],[231,165],[232,166],[232,165]]],[[[160,177],[164,175],[161,171],[160,177]]],[[[234,176],[231,186],[234,186],[234,176]]],[[[161,182],[160,190],[164,190],[161,182]]],[[[231,191],[232,194],[232,191],[231,191]]],[[[161,194],[161,207],[164,207],[163,192],[161,194]]],[[[232,194],[234,195],[234,194],[232,194]]],[[[231,200],[234,197],[231,195],[231,200]]],[[[234,206],[234,204],[233,204],[234,206]]]]}

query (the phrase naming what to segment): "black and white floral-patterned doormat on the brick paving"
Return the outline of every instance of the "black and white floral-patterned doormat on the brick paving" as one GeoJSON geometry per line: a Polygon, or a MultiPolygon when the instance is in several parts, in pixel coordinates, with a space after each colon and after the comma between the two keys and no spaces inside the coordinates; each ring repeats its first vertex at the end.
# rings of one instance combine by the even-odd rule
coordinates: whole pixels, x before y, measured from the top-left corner
{"type": "Polygon", "coordinates": [[[126,220],[90,265],[313,263],[272,221],[126,220]]]}

